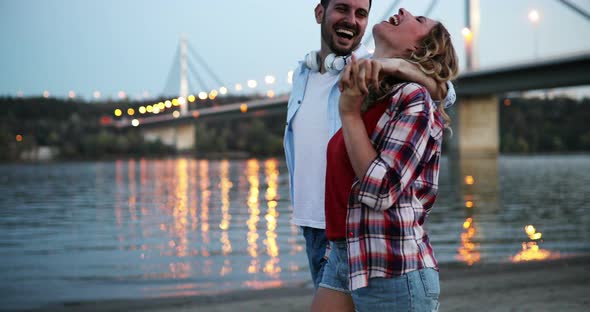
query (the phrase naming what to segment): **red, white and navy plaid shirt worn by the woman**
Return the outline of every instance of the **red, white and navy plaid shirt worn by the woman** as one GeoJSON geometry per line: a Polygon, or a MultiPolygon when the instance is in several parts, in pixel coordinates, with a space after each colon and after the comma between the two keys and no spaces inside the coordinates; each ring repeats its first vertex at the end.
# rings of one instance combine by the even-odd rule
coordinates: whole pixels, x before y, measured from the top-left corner
{"type": "Polygon", "coordinates": [[[423,226],[438,192],[442,117],[424,87],[395,88],[371,135],[378,155],[349,197],[351,290],[372,277],[438,269],[423,226]]]}

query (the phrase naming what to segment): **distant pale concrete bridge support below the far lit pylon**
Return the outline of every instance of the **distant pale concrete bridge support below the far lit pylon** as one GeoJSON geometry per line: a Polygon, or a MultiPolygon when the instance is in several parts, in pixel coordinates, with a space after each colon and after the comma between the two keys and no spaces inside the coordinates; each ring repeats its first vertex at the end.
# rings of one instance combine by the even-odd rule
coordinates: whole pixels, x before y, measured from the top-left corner
{"type": "Polygon", "coordinates": [[[144,140],[174,147],[177,151],[186,151],[195,147],[195,125],[184,124],[162,128],[142,129],[144,140]]]}

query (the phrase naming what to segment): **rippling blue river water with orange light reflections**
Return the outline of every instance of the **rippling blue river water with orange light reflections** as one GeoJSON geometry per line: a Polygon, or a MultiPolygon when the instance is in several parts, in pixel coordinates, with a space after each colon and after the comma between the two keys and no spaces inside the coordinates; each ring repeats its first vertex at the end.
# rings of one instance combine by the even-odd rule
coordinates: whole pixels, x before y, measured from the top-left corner
{"type": "MultiPolygon", "coordinates": [[[[588,172],[588,156],[443,158],[439,262],[589,252],[588,172]]],[[[0,195],[0,308],[309,280],[276,159],[1,165],[0,195]]]]}

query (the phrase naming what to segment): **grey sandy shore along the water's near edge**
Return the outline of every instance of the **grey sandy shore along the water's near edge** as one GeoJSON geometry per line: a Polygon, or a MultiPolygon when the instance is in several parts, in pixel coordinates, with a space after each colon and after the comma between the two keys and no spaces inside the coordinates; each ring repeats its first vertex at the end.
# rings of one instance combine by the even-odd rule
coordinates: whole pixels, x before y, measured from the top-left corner
{"type": "MultiPolygon", "coordinates": [[[[543,262],[441,265],[440,311],[589,311],[590,256],[543,262]]],[[[217,296],[71,302],[34,311],[308,311],[309,286],[217,296]]]]}

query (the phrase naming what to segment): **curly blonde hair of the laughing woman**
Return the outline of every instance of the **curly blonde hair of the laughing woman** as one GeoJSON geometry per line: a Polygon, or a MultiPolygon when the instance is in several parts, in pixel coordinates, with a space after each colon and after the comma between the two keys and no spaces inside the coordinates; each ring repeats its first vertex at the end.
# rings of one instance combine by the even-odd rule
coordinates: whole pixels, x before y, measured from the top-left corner
{"type": "MultiPolygon", "coordinates": [[[[406,60],[416,64],[424,74],[432,77],[441,88],[447,81],[455,79],[459,73],[459,61],[451,42],[451,34],[441,23],[436,23],[432,27],[420,42],[420,47],[412,52],[406,60]]],[[[379,84],[379,90],[373,90],[365,98],[363,110],[389,96],[394,85],[400,82],[395,77],[385,77],[379,84]]],[[[451,124],[451,118],[445,112],[443,102],[441,101],[439,104],[438,110],[445,121],[445,127],[448,128],[451,124]]]]}

